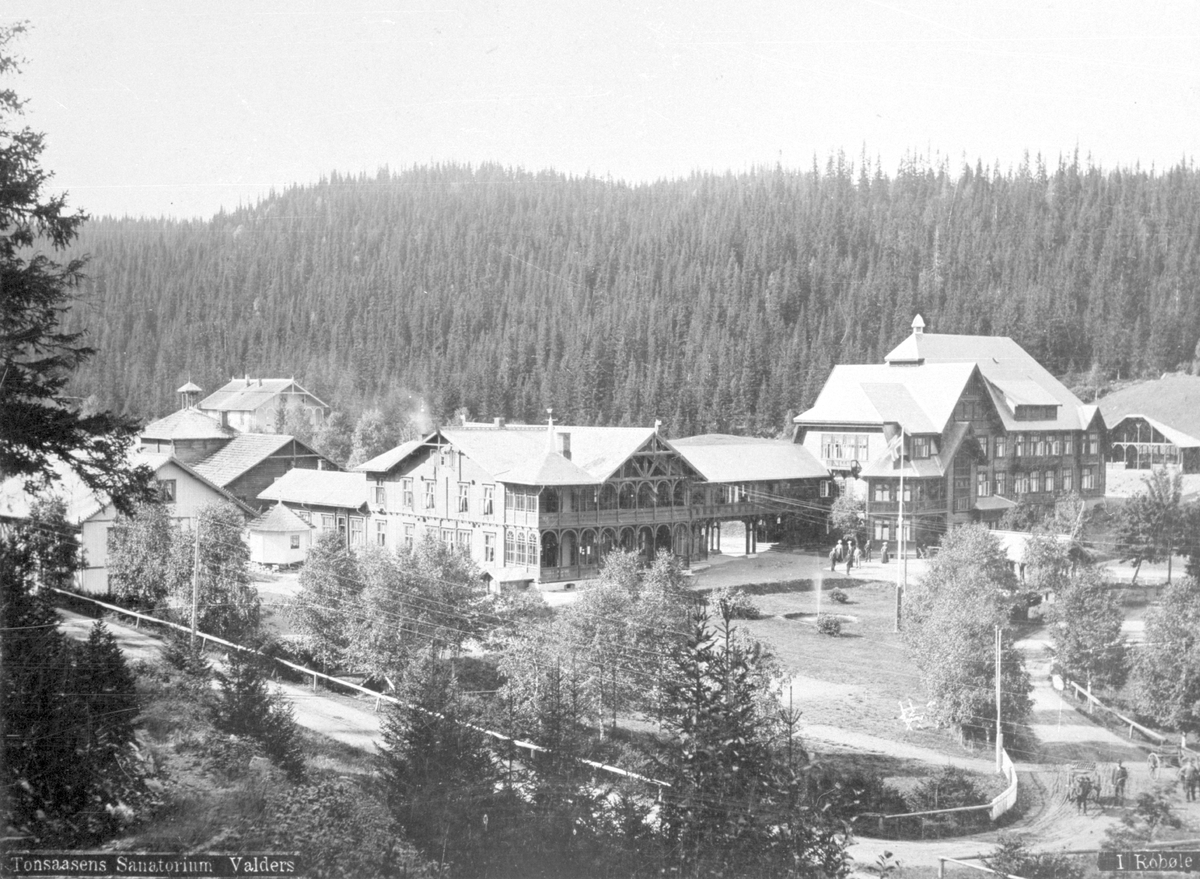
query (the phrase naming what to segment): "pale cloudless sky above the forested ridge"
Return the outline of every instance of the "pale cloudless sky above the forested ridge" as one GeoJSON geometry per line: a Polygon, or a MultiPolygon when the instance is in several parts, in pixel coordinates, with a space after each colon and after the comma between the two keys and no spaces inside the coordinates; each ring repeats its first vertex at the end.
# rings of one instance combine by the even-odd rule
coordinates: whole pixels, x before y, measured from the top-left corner
{"type": "Polygon", "coordinates": [[[641,183],[1200,153],[1195,0],[6,0],[19,20],[2,85],[94,216],[434,162],[641,183]]]}

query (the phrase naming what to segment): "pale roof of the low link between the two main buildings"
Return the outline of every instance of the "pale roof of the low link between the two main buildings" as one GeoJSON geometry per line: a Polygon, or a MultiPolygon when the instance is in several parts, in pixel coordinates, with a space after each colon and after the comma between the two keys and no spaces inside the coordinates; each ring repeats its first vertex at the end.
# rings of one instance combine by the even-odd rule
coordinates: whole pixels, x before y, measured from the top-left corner
{"type": "Polygon", "coordinates": [[[702,433],[672,440],[676,450],[710,483],[811,479],[829,476],[812,453],[790,440],[702,433]]]}

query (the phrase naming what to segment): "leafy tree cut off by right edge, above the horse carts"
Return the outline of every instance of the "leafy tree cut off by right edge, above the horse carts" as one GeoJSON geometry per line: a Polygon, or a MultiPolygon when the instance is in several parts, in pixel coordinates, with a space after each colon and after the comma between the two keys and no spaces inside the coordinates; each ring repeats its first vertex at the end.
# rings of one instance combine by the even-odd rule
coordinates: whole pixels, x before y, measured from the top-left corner
{"type": "Polygon", "coordinates": [[[1171,584],[1146,617],[1134,662],[1138,711],[1175,729],[1200,728],[1200,584],[1171,584]]]}

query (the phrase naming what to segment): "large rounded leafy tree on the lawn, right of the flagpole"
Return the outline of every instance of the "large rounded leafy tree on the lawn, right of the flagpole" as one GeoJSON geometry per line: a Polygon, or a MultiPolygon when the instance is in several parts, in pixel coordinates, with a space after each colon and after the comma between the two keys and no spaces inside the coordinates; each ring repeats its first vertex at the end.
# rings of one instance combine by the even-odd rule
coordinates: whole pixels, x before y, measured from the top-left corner
{"type": "MultiPolygon", "coordinates": [[[[1008,622],[1016,575],[979,525],[949,531],[929,573],[910,586],[904,640],[940,720],[972,734],[995,726],[995,629],[1008,622]]],[[[1001,710],[1009,735],[1030,712],[1028,672],[1010,636],[1001,652],[1001,710]]]]}

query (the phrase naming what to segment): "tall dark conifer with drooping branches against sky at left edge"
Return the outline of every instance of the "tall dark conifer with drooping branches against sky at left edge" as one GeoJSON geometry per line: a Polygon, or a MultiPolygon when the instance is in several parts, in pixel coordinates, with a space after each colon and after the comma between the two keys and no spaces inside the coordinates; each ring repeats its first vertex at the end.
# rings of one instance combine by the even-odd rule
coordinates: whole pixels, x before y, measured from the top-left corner
{"type": "MultiPolygon", "coordinates": [[[[22,24],[0,26],[0,78],[17,72],[10,43],[22,24]]],[[[44,134],[22,126],[25,101],[0,88],[0,477],[32,484],[73,470],[120,509],[149,491],[150,471],[126,455],[137,425],[110,412],[84,412],[64,393],[95,352],[84,331],[64,328],[84,261],[59,261],[88,219],[66,196],[47,195],[52,174],[38,160],[44,134]]]]}

